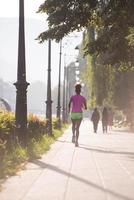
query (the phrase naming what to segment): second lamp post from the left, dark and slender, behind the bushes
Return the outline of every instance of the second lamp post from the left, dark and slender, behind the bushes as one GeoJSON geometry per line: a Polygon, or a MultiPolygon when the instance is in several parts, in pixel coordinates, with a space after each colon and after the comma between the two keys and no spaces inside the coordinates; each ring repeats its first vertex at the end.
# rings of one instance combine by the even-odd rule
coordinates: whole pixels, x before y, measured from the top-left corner
{"type": "Polygon", "coordinates": [[[51,100],[51,40],[48,41],[48,79],[46,101],[47,132],[52,135],[52,100],[51,100]]]}

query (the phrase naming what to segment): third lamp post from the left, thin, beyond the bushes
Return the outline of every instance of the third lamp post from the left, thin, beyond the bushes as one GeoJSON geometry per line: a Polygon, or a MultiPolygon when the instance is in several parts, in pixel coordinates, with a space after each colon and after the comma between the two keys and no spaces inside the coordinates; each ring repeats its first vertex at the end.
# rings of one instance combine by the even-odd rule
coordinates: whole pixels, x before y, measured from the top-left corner
{"type": "Polygon", "coordinates": [[[59,57],[59,81],[58,81],[58,100],[57,100],[57,118],[58,128],[61,127],[61,55],[62,55],[62,40],[60,41],[60,57],[59,57]]]}

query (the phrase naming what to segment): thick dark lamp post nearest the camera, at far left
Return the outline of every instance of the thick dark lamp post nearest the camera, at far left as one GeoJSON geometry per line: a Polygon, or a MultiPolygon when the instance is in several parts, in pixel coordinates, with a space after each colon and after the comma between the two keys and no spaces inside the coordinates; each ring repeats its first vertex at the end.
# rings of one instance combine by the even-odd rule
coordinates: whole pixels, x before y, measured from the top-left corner
{"type": "Polygon", "coordinates": [[[27,86],[25,66],[24,0],[19,0],[18,72],[16,86],[16,132],[24,145],[27,138],[27,86]]]}

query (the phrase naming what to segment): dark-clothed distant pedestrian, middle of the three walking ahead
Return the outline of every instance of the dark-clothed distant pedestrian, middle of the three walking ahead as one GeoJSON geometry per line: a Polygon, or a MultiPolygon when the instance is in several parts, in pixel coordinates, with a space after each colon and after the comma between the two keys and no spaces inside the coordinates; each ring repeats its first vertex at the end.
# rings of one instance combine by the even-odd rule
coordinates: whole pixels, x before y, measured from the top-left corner
{"type": "Polygon", "coordinates": [[[102,111],[102,129],[103,133],[107,133],[107,126],[108,126],[108,110],[106,107],[103,108],[102,111]]]}

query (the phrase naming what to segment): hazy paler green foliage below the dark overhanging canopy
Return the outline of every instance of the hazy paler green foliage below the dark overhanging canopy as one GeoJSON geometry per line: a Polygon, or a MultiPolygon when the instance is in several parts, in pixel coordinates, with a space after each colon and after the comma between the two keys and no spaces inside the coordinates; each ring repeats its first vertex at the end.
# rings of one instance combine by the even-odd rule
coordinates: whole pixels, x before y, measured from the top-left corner
{"type": "MultiPolygon", "coordinates": [[[[89,42],[93,44],[95,41],[95,31],[93,27],[88,28],[87,33],[84,35],[84,45],[89,42]],[[86,38],[86,42],[85,42],[86,38]]],[[[127,44],[133,48],[133,29],[129,29],[129,36],[126,38],[127,44]]],[[[96,41],[95,41],[96,42],[96,41]]],[[[107,42],[107,44],[109,44],[107,42]]],[[[122,45],[122,43],[121,43],[122,45]]],[[[92,47],[92,46],[91,46],[92,47]]],[[[118,47],[115,51],[119,50],[118,47]]],[[[129,56],[131,55],[129,52],[129,56]]],[[[113,50],[114,53],[114,50],[113,50]]],[[[121,51],[118,54],[122,54],[121,51]]],[[[118,110],[122,110],[126,115],[127,121],[130,126],[134,126],[134,70],[132,59],[128,62],[125,59],[120,63],[116,62],[115,65],[110,63],[111,54],[107,50],[100,54],[88,55],[90,60],[87,63],[87,71],[85,79],[90,84],[90,102],[91,105],[107,105],[115,106],[118,110]],[[91,62],[93,60],[93,62],[91,62]],[[90,76],[87,74],[90,74],[90,76]],[[90,80],[90,82],[89,82],[90,80]],[[131,110],[131,111],[130,111],[131,110]]],[[[125,58],[125,57],[124,57],[125,58]]],[[[123,59],[124,59],[123,58],[123,59]]]]}

